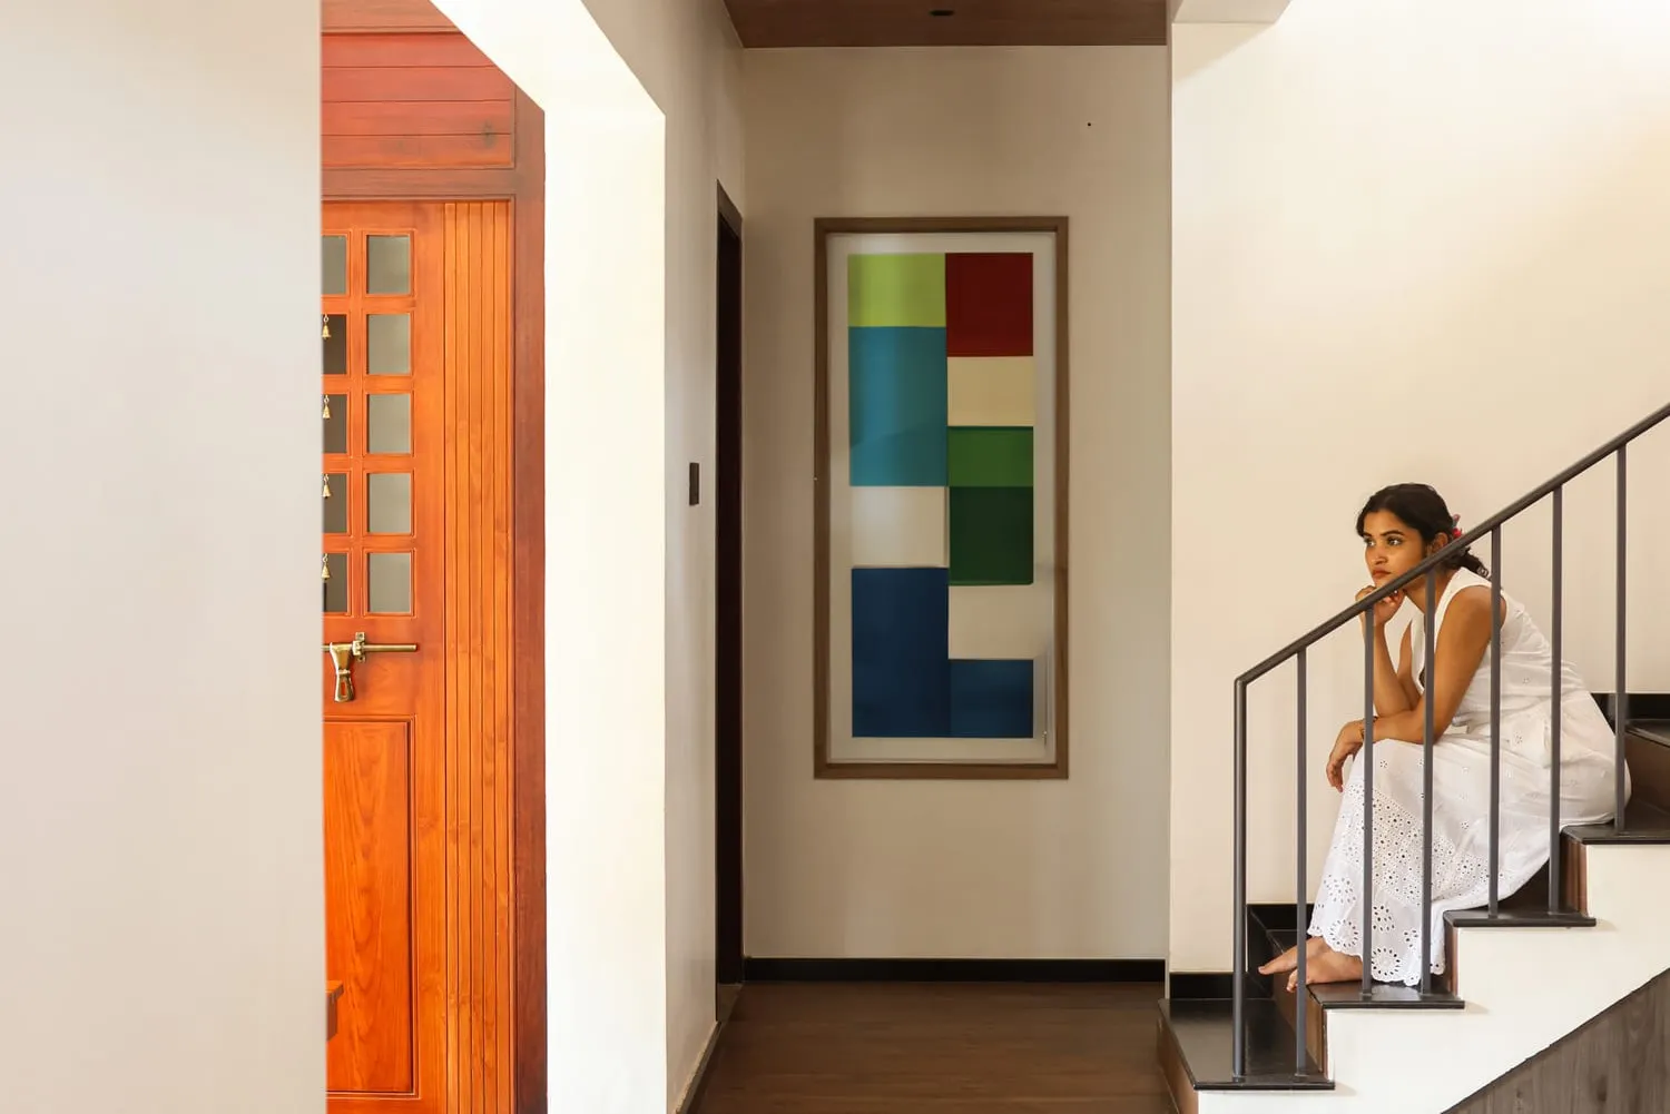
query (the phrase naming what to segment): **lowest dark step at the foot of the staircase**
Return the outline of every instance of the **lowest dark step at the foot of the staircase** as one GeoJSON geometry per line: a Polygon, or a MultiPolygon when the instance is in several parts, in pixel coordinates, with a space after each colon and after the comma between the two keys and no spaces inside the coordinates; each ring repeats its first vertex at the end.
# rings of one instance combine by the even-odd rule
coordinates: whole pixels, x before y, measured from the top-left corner
{"type": "Polygon", "coordinates": [[[1239,1079],[1232,1071],[1234,1004],[1229,999],[1164,999],[1159,1010],[1196,1091],[1334,1089],[1309,1052],[1304,1074],[1294,1074],[1296,1037],[1271,999],[1244,1004],[1247,1071],[1239,1079]]]}

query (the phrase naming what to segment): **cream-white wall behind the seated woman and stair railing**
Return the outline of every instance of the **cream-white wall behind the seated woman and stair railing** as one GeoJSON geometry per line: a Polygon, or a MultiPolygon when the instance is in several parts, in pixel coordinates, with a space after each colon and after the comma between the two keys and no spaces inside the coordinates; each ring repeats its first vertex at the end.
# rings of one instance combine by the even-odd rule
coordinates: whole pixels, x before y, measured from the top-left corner
{"type": "MultiPolygon", "coordinates": [[[[1670,401],[1670,7],[1294,0],[1176,27],[1172,65],[1171,959],[1221,970],[1231,683],[1364,583],[1363,498],[1428,481],[1475,523],[1670,401]]],[[[1667,483],[1662,429],[1632,456],[1637,691],[1670,690],[1667,483]]],[[[1541,618],[1548,521],[1503,561],[1541,618]]],[[[1612,690],[1610,471],[1566,531],[1566,648],[1612,690]]],[[[1359,646],[1311,660],[1313,884],[1359,646]]],[[[1293,727],[1286,668],[1252,701],[1254,900],[1291,900],[1293,727]]]]}

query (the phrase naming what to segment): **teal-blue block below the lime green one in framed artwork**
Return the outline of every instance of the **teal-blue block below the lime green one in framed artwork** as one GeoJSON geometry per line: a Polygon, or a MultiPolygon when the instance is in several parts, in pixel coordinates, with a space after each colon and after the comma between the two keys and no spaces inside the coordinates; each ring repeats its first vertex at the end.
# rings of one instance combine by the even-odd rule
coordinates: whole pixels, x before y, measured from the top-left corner
{"type": "Polygon", "coordinates": [[[847,401],[855,488],[944,488],[945,329],[847,329],[847,401]]]}

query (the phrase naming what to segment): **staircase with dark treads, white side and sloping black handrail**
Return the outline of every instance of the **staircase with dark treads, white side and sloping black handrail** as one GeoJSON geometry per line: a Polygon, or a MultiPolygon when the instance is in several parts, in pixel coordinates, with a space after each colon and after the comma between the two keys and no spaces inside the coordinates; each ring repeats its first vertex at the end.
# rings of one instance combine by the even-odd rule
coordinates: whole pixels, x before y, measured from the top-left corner
{"type": "MultiPolygon", "coordinates": [[[[1625,448],[1667,418],[1670,406],[1486,519],[1461,543],[1475,534],[1490,534],[1500,543],[1503,521],[1550,494],[1558,536],[1563,484],[1617,458],[1622,549],[1625,448]]],[[[1558,581],[1558,556],[1555,561],[1558,581]]],[[[1425,571],[1423,565],[1384,585],[1237,680],[1236,950],[1241,955],[1236,972],[1216,987],[1224,997],[1169,997],[1159,1005],[1159,1059],[1179,1114],[1279,1114],[1289,1109],[1443,1114],[1670,970],[1670,932],[1663,930],[1670,924],[1670,695],[1632,695],[1618,730],[1620,753],[1633,783],[1623,817],[1602,825],[1563,827],[1556,860],[1541,877],[1503,895],[1495,912],[1450,914],[1446,972],[1435,975],[1431,985],[1321,984],[1301,985],[1293,994],[1286,990],[1286,974],[1269,979],[1256,974],[1261,964],[1299,942],[1304,924],[1299,924],[1298,902],[1246,902],[1246,686],[1296,656],[1303,706],[1306,646],[1344,621],[1354,621],[1378,596],[1425,571]],[[1239,1002],[1232,997],[1236,989],[1239,1002]]],[[[1620,630],[1627,618],[1623,601],[1620,563],[1620,630]]],[[[1556,628],[1558,623],[1556,613],[1556,628]]],[[[1553,638],[1558,646],[1558,633],[1553,638]]],[[[1622,635],[1618,645],[1622,690],[1622,635]]],[[[1426,656],[1431,660],[1431,653],[1426,656]]],[[[1597,700],[1617,730],[1617,701],[1610,693],[1597,700]]],[[[1299,808],[1303,800],[1301,792],[1299,808]]],[[[1553,835],[1550,832],[1550,838],[1553,835]]],[[[1304,919],[1309,919],[1308,907],[1304,919]]],[[[1670,1057],[1670,1049],[1658,1051],[1658,1059],[1663,1057],[1670,1057]]],[[[1632,1071],[1648,1067],[1658,1074],[1670,1071],[1663,1062],[1632,1071]]],[[[1511,1109],[1540,1114],[1543,1107],[1511,1109]]],[[[1575,1101],[1555,1097],[1546,1106],[1550,1112],[1575,1109],[1575,1101]]],[[[1670,1107],[1655,1114],[1667,1111],[1670,1107]]]]}

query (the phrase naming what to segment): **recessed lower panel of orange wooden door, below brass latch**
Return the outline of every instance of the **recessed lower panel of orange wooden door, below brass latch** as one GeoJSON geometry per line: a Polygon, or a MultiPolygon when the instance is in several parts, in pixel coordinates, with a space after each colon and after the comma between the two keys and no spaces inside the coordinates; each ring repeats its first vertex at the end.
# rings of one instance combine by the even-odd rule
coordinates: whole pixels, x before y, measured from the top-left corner
{"type": "Polygon", "coordinates": [[[411,727],[324,730],[326,967],[342,984],[332,1091],[412,1091],[411,727]]]}

